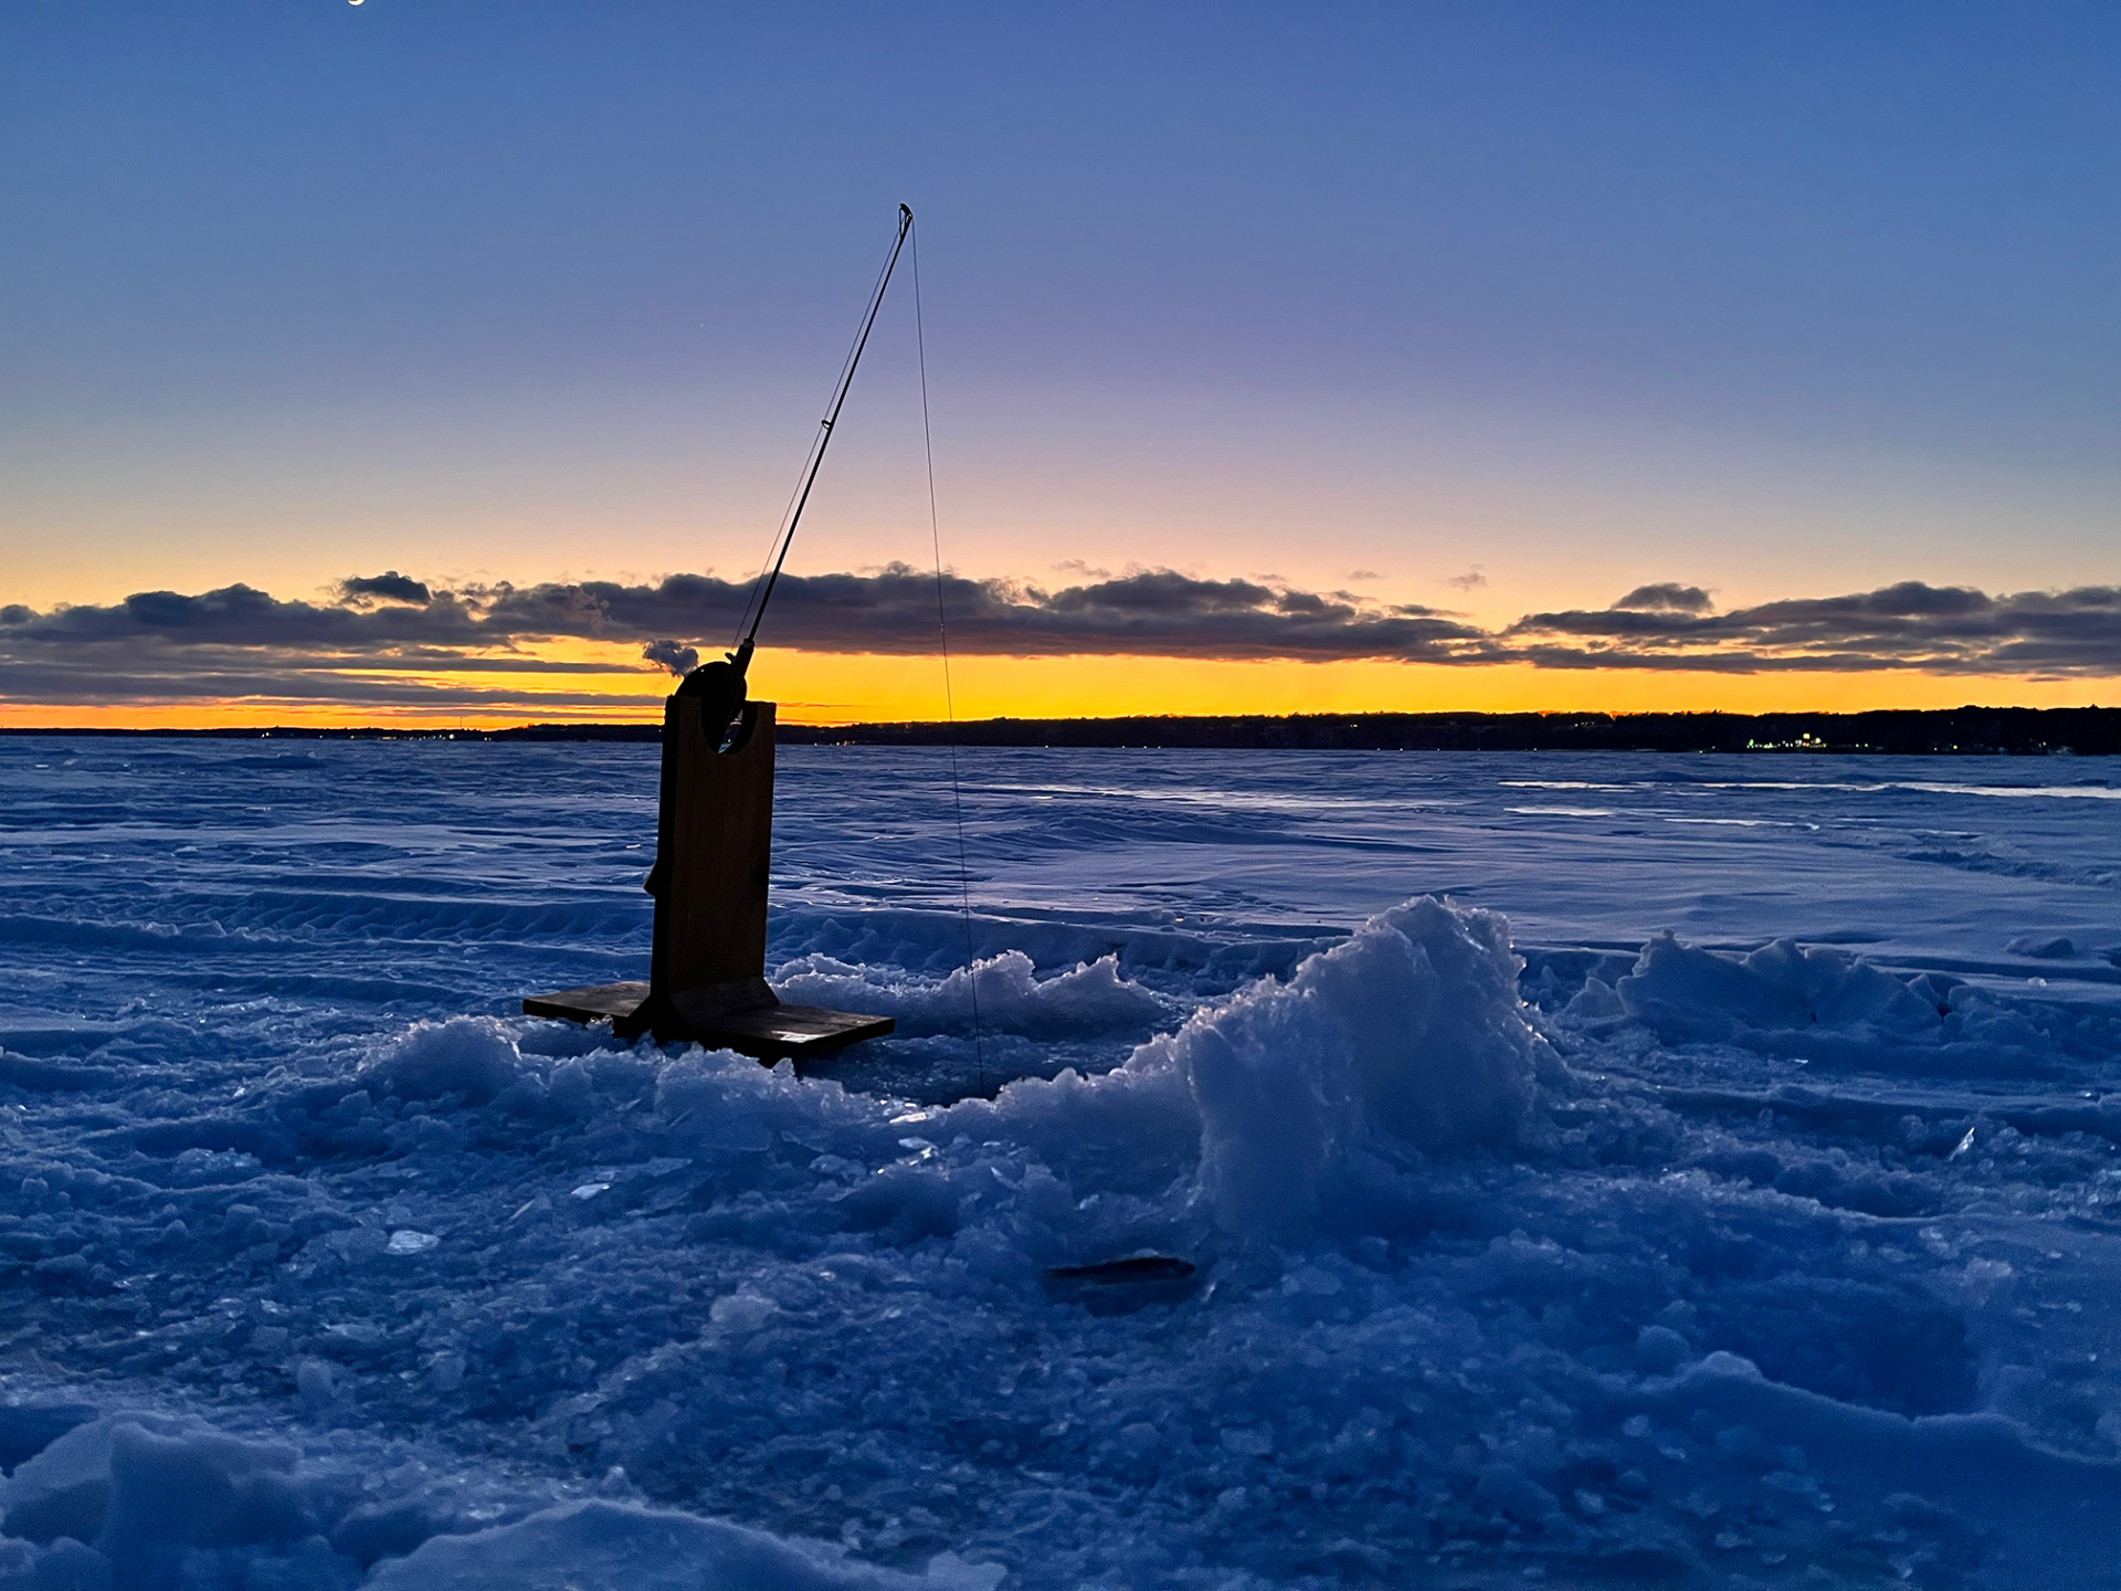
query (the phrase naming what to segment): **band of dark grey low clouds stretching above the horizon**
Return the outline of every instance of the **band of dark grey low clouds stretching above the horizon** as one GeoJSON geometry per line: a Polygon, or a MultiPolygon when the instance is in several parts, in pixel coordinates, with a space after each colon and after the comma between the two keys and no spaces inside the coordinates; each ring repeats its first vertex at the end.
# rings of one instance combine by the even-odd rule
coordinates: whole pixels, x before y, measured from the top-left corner
{"type": "MultiPolygon", "coordinates": [[[[1478,571],[1472,571],[1474,575],[1478,571]]],[[[1459,577],[1468,579],[1468,577],[1459,577]]],[[[1391,660],[1710,672],[2121,675],[2121,588],[1989,596],[1905,581],[1716,613],[1697,585],[1640,585],[1610,609],[1527,613],[1502,630],[1351,592],[1169,569],[1067,585],[944,575],[961,653],[1200,660],[1391,660]]],[[[329,700],[437,709],[511,698],[496,681],[562,685],[551,706],[609,700],[681,675],[732,643],[749,583],[672,575],[439,590],[386,571],[339,583],[337,600],[280,600],[250,585],[185,596],[138,592],[108,607],[0,607],[0,700],[329,700]],[[607,641],[632,660],[541,655],[556,641],[607,641]],[[636,662],[638,660],[638,662],[636,662]]],[[[889,564],[787,575],[766,619],[774,647],[921,655],[937,649],[937,579],[889,564]]],[[[647,689],[643,689],[647,694],[647,689]]]]}

